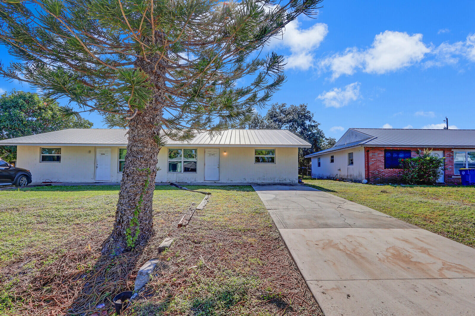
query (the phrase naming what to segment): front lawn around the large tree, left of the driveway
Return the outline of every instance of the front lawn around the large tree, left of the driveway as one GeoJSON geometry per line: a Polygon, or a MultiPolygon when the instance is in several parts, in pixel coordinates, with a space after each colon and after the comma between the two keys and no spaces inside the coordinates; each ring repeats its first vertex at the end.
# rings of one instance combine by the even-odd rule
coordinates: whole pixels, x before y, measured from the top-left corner
{"type": "Polygon", "coordinates": [[[123,315],[322,315],[251,186],[187,187],[212,194],[188,227],[176,224],[204,195],[156,186],[154,237],[114,259],[100,249],[118,186],[0,191],[0,315],[90,316],[102,303],[113,315],[111,298],[151,258],[161,269],[123,315]]]}

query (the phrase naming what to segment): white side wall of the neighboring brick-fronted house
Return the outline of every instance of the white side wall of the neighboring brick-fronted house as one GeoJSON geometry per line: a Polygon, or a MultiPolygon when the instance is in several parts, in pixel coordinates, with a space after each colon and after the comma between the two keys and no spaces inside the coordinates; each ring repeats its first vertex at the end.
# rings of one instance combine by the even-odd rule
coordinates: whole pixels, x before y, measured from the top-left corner
{"type": "Polygon", "coordinates": [[[312,177],[338,177],[341,179],[362,181],[364,179],[364,148],[356,147],[312,157],[312,177]],[[353,166],[348,166],[349,152],[353,153],[353,166]],[[334,156],[334,162],[330,163],[330,156],[332,155],[334,156]],[[320,167],[317,167],[318,158],[321,158],[320,167]]]}

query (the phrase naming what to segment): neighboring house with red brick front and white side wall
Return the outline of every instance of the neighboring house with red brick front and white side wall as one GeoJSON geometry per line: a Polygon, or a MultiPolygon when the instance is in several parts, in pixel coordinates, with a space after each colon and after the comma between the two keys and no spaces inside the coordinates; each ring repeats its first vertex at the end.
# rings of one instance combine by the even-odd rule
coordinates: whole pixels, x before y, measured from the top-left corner
{"type": "Polygon", "coordinates": [[[349,129],[335,146],[310,155],[312,177],[400,183],[400,158],[432,149],[445,157],[440,183],[460,184],[459,169],[475,168],[475,130],[349,129]]]}

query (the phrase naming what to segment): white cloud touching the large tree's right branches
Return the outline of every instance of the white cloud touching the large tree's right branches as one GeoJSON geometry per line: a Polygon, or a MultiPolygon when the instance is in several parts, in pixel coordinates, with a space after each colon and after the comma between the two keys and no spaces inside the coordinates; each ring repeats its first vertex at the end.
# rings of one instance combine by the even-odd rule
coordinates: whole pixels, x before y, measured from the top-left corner
{"type": "Polygon", "coordinates": [[[285,56],[286,68],[308,70],[314,66],[314,51],[328,34],[325,23],[315,23],[310,28],[302,29],[301,23],[294,20],[285,26],[282,39],[273,39],[270,46],[286,46],[291,54],[285,56]]]}

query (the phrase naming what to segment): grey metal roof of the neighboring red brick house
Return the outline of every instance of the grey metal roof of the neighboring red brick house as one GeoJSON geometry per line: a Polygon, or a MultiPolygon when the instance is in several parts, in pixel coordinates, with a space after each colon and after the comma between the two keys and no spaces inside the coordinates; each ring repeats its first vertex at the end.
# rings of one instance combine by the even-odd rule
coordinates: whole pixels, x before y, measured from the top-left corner
{"type": "MultiPolygon", "coordinates": [[[[321,150],[305,157],[337,151],[357,146],[374,147],[452,147],[475,148],[475,130],[429,130],[429,129],[349,129],[366,135],[361,140],[321,150]]],[[[341,140],[341,139],[340,139],[341,140]]],[[[340,142],[338,140],[338,142],[340,142]]]]}

